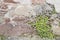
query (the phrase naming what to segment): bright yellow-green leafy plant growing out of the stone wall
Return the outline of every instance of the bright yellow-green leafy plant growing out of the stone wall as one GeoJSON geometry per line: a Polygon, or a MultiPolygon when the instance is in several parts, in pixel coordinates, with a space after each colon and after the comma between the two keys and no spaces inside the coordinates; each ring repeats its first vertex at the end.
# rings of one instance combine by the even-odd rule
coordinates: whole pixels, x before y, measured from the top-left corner
{"type": "Polygon", "coordinates": [[[42,38],[54,38],[54,34],[51,32],[51,26],[47,24],[48,17],[39,16],[36,17],[35,23],[30,23],[36,28],[38,35],[42,38]]]}

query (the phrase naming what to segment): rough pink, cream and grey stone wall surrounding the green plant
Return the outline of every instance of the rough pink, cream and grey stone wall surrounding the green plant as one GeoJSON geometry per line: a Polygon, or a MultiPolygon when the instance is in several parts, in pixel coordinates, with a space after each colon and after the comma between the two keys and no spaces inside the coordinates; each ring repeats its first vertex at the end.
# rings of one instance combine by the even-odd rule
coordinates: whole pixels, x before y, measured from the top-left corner
{"type": "Polygon", "coordinates": [[[0,35],[7,36],[6,40],[50,40],[36,36],[27,22],[34,22],[37,15],[49,16],[53,33],[60,35],[60,14],[52,14],[53,10],[54,5],[45,0],[0,0],[0,35]]]}

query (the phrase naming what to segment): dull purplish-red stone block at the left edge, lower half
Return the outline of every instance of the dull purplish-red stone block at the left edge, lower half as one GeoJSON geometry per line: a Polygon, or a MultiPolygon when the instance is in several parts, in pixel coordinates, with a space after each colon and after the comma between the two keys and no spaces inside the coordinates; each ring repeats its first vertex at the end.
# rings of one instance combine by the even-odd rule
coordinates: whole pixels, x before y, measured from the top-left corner
{"type": "Polygon", "coordinates": [[[8,35],[9,34],[9,30],[12,29],[12,25],[11,24],[0,24],[0,35],[8,35]]]}

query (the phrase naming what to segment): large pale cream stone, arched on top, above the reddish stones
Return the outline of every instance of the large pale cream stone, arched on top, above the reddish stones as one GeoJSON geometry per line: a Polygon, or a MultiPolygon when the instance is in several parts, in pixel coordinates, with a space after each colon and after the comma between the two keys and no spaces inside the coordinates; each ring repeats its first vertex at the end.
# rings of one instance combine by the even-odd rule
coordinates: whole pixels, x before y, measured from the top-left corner
{"type": "Polygon", "coordinates": [[[4,17],[13,20],[16,16],[32,18],[36,16],[36,13],[31,5],[19,5],[16,9],[7,12],[4,17]]]}

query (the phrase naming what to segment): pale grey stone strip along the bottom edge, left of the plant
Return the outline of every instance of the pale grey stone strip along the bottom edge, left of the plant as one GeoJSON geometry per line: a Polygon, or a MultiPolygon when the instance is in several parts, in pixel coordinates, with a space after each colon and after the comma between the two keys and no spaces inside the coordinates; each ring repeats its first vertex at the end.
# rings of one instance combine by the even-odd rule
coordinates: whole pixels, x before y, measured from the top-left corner
{"type": "Polygon", "coordinates": [[[27,37],[8,37],[6,40],[42,40],[39,36],[33,36],[30,35],[27,37]]]}

